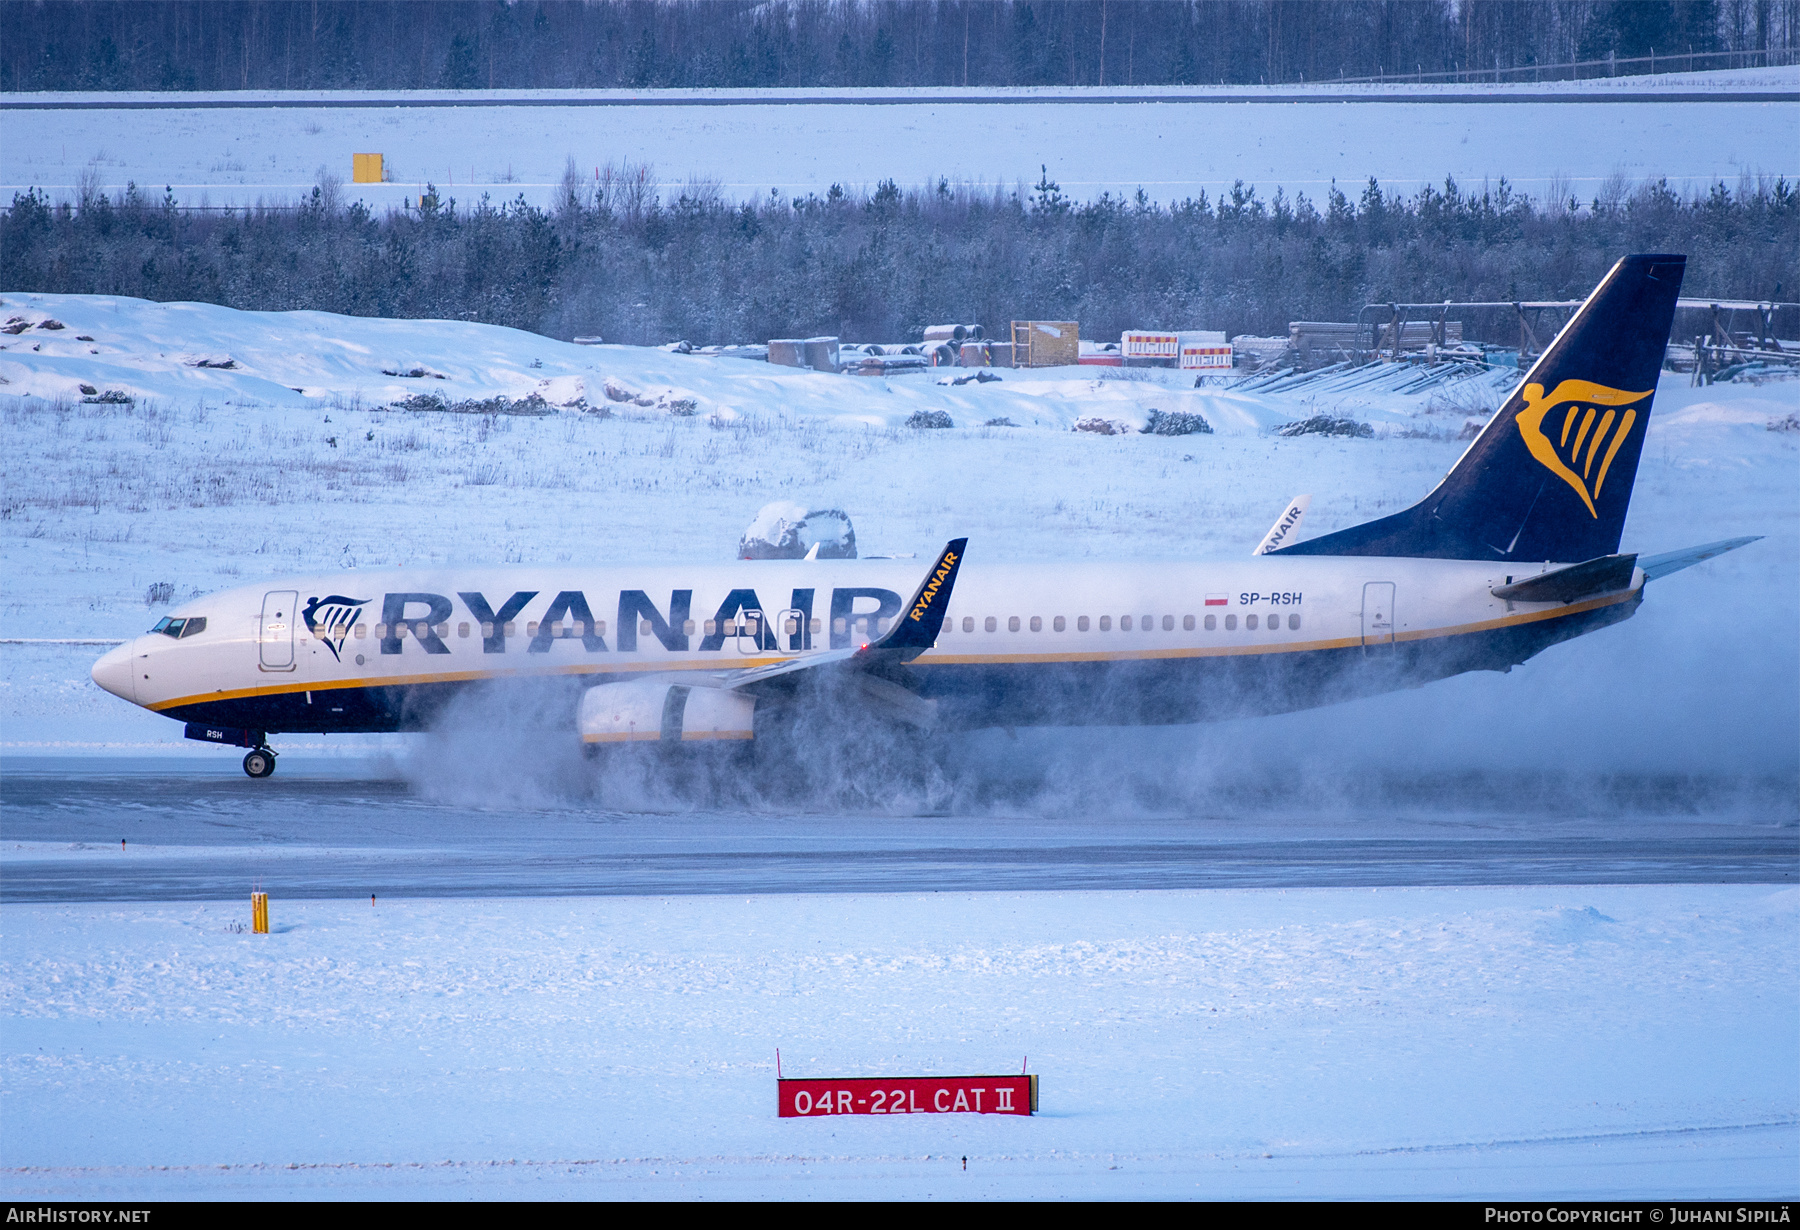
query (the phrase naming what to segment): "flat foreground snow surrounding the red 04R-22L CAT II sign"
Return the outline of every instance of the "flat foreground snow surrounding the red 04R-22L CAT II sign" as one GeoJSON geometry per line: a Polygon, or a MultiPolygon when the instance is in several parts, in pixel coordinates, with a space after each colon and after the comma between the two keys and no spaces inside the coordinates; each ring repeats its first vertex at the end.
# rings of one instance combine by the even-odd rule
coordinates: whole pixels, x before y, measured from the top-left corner
{"type": "MultiPolygon", "coordinates": [[[[128,855],[121,855],[128,857],[128,855]]],[[[34,1198],[1780,1198],[1800,890],[0,908],[34,1198]],[[1040,1115],[776,1118],[787,1075],[1040,1115]],[[961,1158],[968,1158],[963,1171],[961,1158]]]]}

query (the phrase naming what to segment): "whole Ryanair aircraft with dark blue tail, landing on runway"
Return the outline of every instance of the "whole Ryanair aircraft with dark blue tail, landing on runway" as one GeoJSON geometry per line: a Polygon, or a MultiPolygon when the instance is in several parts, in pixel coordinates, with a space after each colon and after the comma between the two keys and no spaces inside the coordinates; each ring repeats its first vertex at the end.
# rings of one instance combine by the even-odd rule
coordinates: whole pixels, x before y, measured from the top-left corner
{"type": "Polygon", "coordinates": [[[1627,256],[1424,501],[1195,564],[965,569],[904,560],[337,573],[198,598],[94,665],[108,692],[248,747],[277,731],[410,731],[486,681],[535,677],[571,737],[749,740],[830,684],[893,720],[1177,724],[1510,670],[1629,618],[1643,587],[1753,538],[1618,544],[1683,256],[1627,256]],[[907,596],[911,594],[911,596],[907,596]]]}

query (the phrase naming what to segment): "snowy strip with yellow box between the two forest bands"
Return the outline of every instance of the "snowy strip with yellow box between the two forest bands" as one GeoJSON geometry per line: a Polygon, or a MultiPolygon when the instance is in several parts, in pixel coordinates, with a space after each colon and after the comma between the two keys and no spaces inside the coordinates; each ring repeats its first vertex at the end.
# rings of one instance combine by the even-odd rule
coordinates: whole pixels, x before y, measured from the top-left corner
{"type": "Polygon", "coordinates": [[[198,106],[180,108],[169,94],[11,95],[0,103],[0,194],[41,187],[70,200],[85,182],[106,191],[135,182],[153,194],[169,187],[184,205],[288,202],[322,171],[349,180],[351,155],[371,151],[387,157],[392,182],[347,184],[346,194],[376,207],[416,200],[427,182],[464,203],[524,194],[544,205],[571,158],[581,175],[650,164],[666,184],[716,184],[729,198],[940,176],[1010,191],[1037,182],[1040,167],[1078,200],[1141,187],[1157,202],[1217,196],[1235,180],[1264,198],[1282,187],[1323,202],[1334,180],[1355,196],[1372,175],[1406,193],[1444,176],[1465,187],[1507,176],[1532,196],[1582,202],[1613,176],[1667,176],[1676,191],[1800,176],[1800,68],[1487,86],[191,99],[198,106]],[[1768,101],[1771,92],[1787,97],[1768,101]],[[1546,97],[1606,101],[1525,101],[1546,97]],[[445,101],[457,106],[437,106],[445,101]],[[45,103],[61,106],[22,108],[45,103]]]}

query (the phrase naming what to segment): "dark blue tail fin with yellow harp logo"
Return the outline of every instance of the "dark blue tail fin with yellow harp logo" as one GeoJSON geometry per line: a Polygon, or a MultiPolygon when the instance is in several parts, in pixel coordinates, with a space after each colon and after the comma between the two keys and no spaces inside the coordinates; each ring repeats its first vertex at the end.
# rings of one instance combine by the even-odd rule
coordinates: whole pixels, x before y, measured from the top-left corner
{"type": "Polygon", "coordinates": [[[1271,555],[1591,560],[1618,551],[1685,256],[1627,256],[1424,501],[1271,555]]]}

